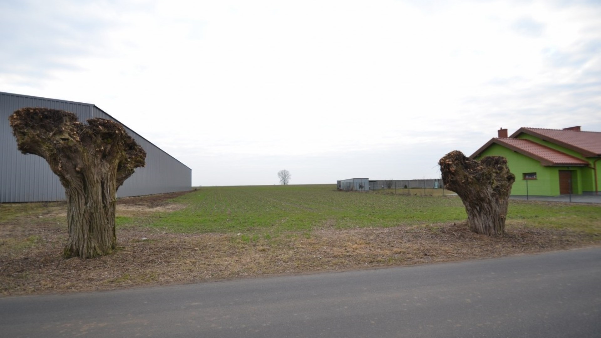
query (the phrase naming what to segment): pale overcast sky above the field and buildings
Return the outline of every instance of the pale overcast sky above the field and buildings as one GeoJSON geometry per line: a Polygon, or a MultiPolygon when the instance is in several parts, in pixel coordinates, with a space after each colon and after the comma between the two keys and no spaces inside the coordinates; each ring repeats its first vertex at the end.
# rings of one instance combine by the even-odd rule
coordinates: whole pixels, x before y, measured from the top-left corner
{"type": "Polygon", "coordinates": [[[0,0],[0,91],[93,103],[193,186],[439,178],[601,131],[601,1],[0,0]]]}

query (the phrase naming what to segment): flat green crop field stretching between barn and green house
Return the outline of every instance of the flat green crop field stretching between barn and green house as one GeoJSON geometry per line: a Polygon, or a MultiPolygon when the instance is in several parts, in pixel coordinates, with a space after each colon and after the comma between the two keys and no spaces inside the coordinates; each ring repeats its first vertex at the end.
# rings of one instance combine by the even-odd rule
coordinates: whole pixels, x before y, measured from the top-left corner
{"type": "MultiPolygon", "coordinates": [[[[201,187],[172,200],[185,207],[156,215],[150,226],[171,232],[281,232],[466,220],[460,198],[448,192],[442,195],[412,191],[407,195],[407,190],[392,194],[343,192],[335,188],[335,185],[201,187]]],[[[600,219],[601,207],[587,204],[511,201],[508,214],[508,221],[587,232],[599,232],[600,219]]]]}

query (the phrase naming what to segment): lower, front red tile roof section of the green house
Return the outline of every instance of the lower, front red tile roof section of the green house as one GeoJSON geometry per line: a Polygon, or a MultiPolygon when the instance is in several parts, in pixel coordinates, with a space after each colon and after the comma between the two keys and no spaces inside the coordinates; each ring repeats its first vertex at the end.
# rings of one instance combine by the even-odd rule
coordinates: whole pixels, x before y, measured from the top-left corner
{"type": "Polygon", "coordinates": [[[484,146],[473,153],[472,156],[469,156],[469,158],[474,159],[493,143],[514,150],[529,158],[536,159],[541,165],[588,165],[588,162],[583,159],[567,155],[566,153],[562,153],[530,140],[520,140],[518,138],[492,138],[484,144],[484,146]]]}

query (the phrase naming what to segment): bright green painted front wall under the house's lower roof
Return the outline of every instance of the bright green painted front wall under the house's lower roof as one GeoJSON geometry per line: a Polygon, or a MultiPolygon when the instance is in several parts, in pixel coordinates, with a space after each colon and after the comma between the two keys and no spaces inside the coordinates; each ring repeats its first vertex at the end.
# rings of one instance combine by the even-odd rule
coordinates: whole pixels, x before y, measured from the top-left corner
{"type": "MultiPolygon", "coordinates": [[[[582,194],[582,171],[587,168],[578,167],[543,167],[540,162],[511,149],[492,144],[476,159],[484,156],[504,156],[516,182],[511,186],[511,195],[557,196],[560,194],[560,170],[572,171],[572,193],[582,194]],[[523,174],[536,173],[536,179],[525,180],[523,174]]],[[[600,161],[601,162],[601,161],[600,161]]]]}

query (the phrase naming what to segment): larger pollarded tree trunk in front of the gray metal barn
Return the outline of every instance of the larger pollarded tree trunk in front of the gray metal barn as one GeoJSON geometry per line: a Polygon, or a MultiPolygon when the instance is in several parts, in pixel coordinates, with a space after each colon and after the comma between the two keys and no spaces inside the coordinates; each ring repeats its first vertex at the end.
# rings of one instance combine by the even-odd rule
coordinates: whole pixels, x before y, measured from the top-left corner
{"type": "Polygon", "coordinates": [[[114,250],[116,192],[135,168],[144,167],[144,149],[121,124],[103,118],[84,124],[72,112],[22,108],[8,119],[19,150],[46,159],[65,188],[64,256],[87,259],[114,250]]]}

